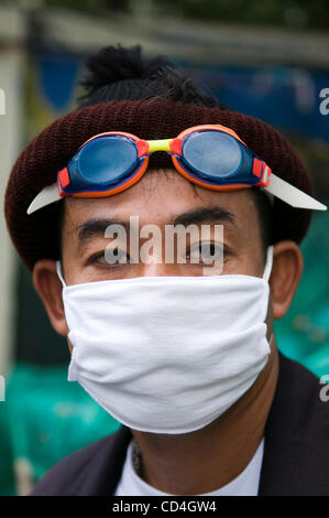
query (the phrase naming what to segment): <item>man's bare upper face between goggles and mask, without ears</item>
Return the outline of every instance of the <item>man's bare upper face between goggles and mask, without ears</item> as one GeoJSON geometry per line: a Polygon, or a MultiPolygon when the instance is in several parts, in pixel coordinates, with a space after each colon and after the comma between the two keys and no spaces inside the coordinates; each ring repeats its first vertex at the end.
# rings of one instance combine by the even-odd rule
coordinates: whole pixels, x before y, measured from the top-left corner
{"type": "MultiPolygon", "coordinates": [[[[135,219],[136,220],[136,219],[135,219]]],[[[244,273],[262,277],[264,250],[254,197],[249,190],[215,192],[196,186],[175,170],[150,171],[129,190],[103,198],[68,198],[62,234],[62,257],[66,284],[123,279],[141,276],[201,276],[207,274],[202,255],[199,262],[178,260],[166,262],[166,225],[210,226],[209,239],[216,240],[215,225],[222,225],[222,273],[244,273]],[[136,262],[131,258],[130,218],[138,218],[139,229],[155,225],[163,236],[161,257],[136,262]],[[106,234],[110,225],[127,229],[127,240],[116,235],[116,241],[106,234]],[[119,257],[127,262],[110,263],[106,250],[116,242],[119,257]]],[[[112,227],[113,228],[113,227],[112,227]]],[[[112,235],[113,236],[113,235],[112,235]]],[[[139,250],[150,236],[140,238],[139,250]]],[[[186,257],[197,242],[187,234],[186,257]]],[[[156,256],[157,253],[157,256],[156,256]]],[[[175,252],[176,253],[176,252],[175,252]]],[[[175,256],[176,257],[176,256],[175,256]]]]}

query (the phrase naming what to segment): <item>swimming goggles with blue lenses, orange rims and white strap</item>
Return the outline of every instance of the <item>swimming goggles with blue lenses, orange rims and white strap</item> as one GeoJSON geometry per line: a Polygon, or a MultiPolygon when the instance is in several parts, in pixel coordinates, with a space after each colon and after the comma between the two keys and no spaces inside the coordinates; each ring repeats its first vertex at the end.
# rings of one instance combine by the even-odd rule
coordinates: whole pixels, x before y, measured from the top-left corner
{"type": "Polygon", "coordinates": [[[143,140],[120,131],[91,137],[57,172],[57,182],[37,194],[28,214],[66,196],[103,197],[125,191],[143,176],[149,157],[156,151],[171,154],[177,172],[201,187],[230,191],[257,186],[271,199],[276,196],[293,207],[327,208],[276,176],[233,130],[205,125],[165,140],[143,140]]]}

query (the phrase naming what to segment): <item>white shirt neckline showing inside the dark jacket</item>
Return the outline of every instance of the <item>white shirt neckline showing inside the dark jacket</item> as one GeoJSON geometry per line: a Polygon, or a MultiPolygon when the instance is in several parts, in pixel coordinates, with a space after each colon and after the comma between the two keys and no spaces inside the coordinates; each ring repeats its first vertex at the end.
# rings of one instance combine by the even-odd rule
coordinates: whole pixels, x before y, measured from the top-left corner
{"type": "MultiPolygon", "coordinates": [[[[232,482],[199,496],[256,496],[259,493],[261,467],[263,462],[264,440],[259,445],[254,456],[240,475],[232,482]]],[[[167,493],[160,492],[155,487],[150,486],[146,482],[139,477],[133,468],[132,463],[132,442],[130,442],[127,457],[122,470],[121,479],[116,489],[116,496],[173,496],[167,493]]],[[[186,496],[186,495],[183,495],[186,496]]]]}

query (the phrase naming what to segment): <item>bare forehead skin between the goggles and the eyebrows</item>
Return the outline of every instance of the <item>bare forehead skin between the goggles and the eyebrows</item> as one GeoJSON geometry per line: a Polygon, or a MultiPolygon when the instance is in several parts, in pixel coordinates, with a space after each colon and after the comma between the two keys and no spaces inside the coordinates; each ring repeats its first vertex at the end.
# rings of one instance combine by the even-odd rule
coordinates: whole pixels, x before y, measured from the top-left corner
{"type": "Polygon", "coordinates": [[[222,214],[231,214],[232,218],[223,218],[223,225],[244,234],[246,238],[259,225],[254,198],[249,188],[211,191],[193,184],[172,169],[150,170],[136,184],[113,196],[67,198],[65,204],[66,229],[76,228],[89,219],[124,222],[130,216],[139,216],[143,225],[165,225],[179,215],[201,208],[218,209],[213,211],[213,219],[220,209],[222,214]]]}

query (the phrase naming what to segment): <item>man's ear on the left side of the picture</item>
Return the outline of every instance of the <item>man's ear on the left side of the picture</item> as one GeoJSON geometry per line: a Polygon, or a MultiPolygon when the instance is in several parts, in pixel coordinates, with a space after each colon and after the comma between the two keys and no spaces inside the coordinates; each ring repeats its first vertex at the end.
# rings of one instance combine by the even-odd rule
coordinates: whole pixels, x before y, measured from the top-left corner
{"type": "Polygon", "coordinates": [[[57,276],[56,262],[51,259],[37,261],[33,268],[32,279],[54,330],[61,335],[67,336],[68,327],[62,299],[63,287],[57,276]]]}

